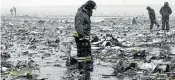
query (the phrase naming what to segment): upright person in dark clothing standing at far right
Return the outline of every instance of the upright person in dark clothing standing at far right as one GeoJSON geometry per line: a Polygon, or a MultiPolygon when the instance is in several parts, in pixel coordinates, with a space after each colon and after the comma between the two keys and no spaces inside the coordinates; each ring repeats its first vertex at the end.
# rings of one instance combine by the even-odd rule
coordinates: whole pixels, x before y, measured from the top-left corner
{"type": "Polygon", "coordinates": [[[160,14],[162,15],[162,30],[169,31],[169,16],[172,14],[172,10],[168,2],[165,2],[164,6],[161,7],[160,14]]]}

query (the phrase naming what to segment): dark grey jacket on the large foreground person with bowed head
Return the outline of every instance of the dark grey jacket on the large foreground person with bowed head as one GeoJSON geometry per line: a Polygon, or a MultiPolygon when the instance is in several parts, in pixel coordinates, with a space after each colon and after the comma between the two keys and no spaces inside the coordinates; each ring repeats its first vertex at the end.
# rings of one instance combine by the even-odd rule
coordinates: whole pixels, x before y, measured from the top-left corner
{"type": "Polygon", "coordinates": [[[78,12],[75,16],[75,30],[77,31],[79,37],[90,35],[91,15],[92,11],[85,10],[84,5],[78,9],[78,12]]]}

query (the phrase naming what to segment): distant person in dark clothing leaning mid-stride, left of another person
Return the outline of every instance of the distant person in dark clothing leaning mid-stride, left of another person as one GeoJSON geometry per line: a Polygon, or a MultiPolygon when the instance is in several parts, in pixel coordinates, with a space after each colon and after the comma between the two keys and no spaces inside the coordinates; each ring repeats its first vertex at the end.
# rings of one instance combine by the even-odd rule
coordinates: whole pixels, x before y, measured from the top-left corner
{"type": "Polygon", "coordinates": [[[156,24],[157,25],[157,28],[159,28],[159,24],[156,22],[156,15],[155,15],[155,12],[154,12],[154,9],[152,9],[151,7],[147,6],[146,8],[148,10],[148,14],[149,14],[149,19],[151,21],[151,24],[150,24],[150,30],[153,29],[153,25],[156,24]]]}

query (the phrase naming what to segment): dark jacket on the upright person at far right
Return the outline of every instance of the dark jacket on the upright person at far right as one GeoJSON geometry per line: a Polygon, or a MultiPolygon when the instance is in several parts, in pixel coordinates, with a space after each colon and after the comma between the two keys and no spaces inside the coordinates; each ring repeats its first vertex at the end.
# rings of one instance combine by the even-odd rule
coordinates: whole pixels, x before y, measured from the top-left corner
{"type": "Polygon", "coordinates": [[[171,15],[171,13],[172,13],[172,10],[171,10],[171,8],[167,5],[167,6],[163,6],[163,7],[161,7],[161,9],[160,9],[160,14],[162,15],[162,16],[169,16],[169,15],[171,15]]]}

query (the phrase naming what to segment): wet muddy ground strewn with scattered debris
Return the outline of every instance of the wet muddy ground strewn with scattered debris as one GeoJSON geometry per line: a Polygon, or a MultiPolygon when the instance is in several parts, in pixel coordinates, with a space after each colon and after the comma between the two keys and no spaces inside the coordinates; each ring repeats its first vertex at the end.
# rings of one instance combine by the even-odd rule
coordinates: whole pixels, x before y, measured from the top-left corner
{"type": "MultiPolygon", "coordinates": [[[[115,38],[124,40],[124,45],[129,48],[144,48],[149,56],[172,54],[170,60],[152,60],[149,64],[159,63],[174,64],[175,61],[175,18],[170,20],[171,31],[163,32],[156,29],[149,30],[149,21],[145,16],[138,16],[137,24],[131,24],[132,17],[93,17],[92,34],[99,38],[106,34],[113,34],[115,38]],[[157,41],[157,44],[153,42],[157,41]],[[152,43],[151,43],[152,42],[152,43]],[[157,62],[157,63],[156,63],[157,62]]],[[[159,23],[161,21],[158,21],[159,23]]],[[[74,32],[74,17],[36,17],[36,16],[2,16],[1,20],[1,75],[7,79],[9,71],[19,61],[33,60],[37,64],[33,74],[37,79],[46,80],[73,80],[78,79],[76,69],[69,70],[66,66],[67,46],[63,42],[71,44],[71,55],[76,55],[75,41],[72,37],[74,32]],[[7,55],[7,56],[4,56],[7,55]]],[[[128,50],[129,48],[123,48],[128,50]]],[[[115,54],[117,52],[105,52],[93,50],[94,71],[90,72],[91,80],[145,80],[152,73],[143,74],[141,70],[135,71],[135,75],[118,74],[114,75],[114,66],[120,61],[115,54]],[[110,56],[110,59],[108,58],[110,56]]],[[[111,50],[112,51],[112,50],[111,50]]],[[[127,53],[127,52],[126,52],[127,53]]],[[[129,56],[126,55],[128,60],[129,56]]],[[[143,59],[134,60],[136,63],[146,64],[143,59]]],[[[170,72],[174,72],[171,69],[170,72]]],[[[148,70],[149,71],[149,70],[148,70]]],[[[127,72],[133,73],[133,72],[127,72]]],[[[172,77],[173,75],[169,76],[172,77]]],[[[169,78],[167,77],[167,78],[169,78]]]]}

